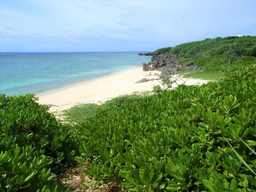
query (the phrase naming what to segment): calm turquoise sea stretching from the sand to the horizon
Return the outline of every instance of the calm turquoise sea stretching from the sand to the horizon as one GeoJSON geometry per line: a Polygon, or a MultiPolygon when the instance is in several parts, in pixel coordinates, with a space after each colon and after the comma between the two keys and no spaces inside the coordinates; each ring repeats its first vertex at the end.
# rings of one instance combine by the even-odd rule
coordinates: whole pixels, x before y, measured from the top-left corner
{"type": "Polygon", "coordinates": [[[137,52],[1,52],[0,93],[42,93],[148,61],[137,52]]]}

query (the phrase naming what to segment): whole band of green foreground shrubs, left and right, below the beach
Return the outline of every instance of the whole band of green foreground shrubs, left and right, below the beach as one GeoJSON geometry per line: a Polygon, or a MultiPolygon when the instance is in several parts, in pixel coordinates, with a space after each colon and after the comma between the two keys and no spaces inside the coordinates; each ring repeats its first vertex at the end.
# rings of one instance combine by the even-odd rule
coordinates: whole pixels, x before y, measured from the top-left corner
{"type": "Polygon", "coordinates": [[[0,191],[65,191],[76,163],[120,191],[255,191],[256,62],[234,63],[219,82],[77,106],[70,124],[1,95],[0,191]]]}

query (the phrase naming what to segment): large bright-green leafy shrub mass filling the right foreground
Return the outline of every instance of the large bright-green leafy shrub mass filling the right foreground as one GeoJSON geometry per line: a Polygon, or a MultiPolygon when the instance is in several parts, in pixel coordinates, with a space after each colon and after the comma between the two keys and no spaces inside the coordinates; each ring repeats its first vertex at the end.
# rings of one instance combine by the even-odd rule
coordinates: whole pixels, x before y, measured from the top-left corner
{"type": "Polygon", "coordinates": [[[81,125],[76,159],[131,191],[255,191],[255,95],[256,66],[220,83],[115,99],[81,125]]]}

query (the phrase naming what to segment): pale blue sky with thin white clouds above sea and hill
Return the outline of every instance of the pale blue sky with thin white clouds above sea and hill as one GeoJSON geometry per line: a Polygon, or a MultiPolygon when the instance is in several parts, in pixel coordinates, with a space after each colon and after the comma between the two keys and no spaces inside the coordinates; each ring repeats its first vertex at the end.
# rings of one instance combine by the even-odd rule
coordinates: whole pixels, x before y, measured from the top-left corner
{"type": "Polygon", "coordinates": [[[256,0],[0,0],[0,51],[154,51],[256,35],[256,0]]]}

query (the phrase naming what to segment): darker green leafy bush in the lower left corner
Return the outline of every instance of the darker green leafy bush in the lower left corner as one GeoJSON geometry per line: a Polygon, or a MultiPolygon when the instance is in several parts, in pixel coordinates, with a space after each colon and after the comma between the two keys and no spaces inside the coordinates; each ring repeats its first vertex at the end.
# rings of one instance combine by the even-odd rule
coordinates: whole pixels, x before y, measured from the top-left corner
{"type": "Polygon", "coordinates": [[[33,95],[0,95],[0,191],[60,191],[56,176],[70,165],[76,135],[33,95]]]}

